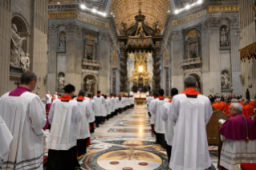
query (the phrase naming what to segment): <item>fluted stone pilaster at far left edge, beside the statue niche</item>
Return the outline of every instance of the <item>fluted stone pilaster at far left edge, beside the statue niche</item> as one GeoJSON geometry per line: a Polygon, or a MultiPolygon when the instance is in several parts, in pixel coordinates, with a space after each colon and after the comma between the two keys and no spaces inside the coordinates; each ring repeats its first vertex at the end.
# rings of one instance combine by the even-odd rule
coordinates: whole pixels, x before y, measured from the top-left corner
{"type": "Polygon", "coordinates": [[[11,0],[0,2],[0,95],[8,91],[10,79],[11,0]]]}

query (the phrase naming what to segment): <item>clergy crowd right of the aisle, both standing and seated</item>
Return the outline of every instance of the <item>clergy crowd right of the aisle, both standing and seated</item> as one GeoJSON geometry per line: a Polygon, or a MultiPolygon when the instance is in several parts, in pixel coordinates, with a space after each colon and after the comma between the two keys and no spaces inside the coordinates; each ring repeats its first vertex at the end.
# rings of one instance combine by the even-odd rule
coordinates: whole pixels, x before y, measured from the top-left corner
{"type": "Polygon", "coordinates": [[[225,104],[225,98],[222,97],[215,99],[212,106],[209,96],[201,95],[196,91],[196,79],[189,76],[184,83],[185,91],[178,95],[177,89],[173,88],[170,92],[172,99],[169,101],[163,96],[162,89],[147,97],[152,133],[156,135],[156,144],[161,144],[162,148],[166,149],[169,168],[215,169],[209,157],[208,141],[212,141],[207,137],[207,133],[210,132],[208,129],[211,127],[209,122],[212,123],[218,114],[216,111],[220,111],[230,118],[226,121],[219,120],[218,126],[214,127],[217,128],[217,136],[220,135],[222,141],[219,148],[221,151],[219,168],[256,169],[254,100],[238,101],[228,96],[230,103],[225,104]]]}

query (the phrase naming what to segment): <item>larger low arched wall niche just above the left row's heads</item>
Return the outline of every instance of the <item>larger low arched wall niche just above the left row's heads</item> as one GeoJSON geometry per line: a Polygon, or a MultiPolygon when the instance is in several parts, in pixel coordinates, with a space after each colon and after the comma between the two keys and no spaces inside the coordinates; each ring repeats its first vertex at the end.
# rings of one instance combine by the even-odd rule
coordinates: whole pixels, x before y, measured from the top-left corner
{"type": "Polygon", "coordinates": [[[92,74],[92,73],[83,73],[82,75],[82,88],[83,90],[86,91],[87,94],[91,93],[92,96],[96,95],[97,93],[97,88],[98,88],[98,85],[99,85],[99,77],[98,75],[95,75],[95,74],[92,74]],[[87,88],[87,85],[86,85],[86,81],[87,79],[90,79],[90,80],[95,80],[95,83],[91,86],[91,90],[88,91],[86,88],[87,88]]]}

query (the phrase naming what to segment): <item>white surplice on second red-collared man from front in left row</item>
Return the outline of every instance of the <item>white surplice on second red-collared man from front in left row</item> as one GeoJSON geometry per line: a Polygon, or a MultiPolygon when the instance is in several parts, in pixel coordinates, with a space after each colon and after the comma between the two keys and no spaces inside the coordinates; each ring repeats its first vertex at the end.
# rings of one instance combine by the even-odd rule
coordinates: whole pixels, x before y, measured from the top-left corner
{"type": "Polygon", "coordinates": [[[91,109],[90,109],[90,99],[85,99],[83,101],[77,101],[79,107],[83,111],[83,117],[81,121],[77,123],[77,140],[84,140],[91,136],[90,128],[89,128],[89,121],[88,118],[91,116],[91,109]]]}

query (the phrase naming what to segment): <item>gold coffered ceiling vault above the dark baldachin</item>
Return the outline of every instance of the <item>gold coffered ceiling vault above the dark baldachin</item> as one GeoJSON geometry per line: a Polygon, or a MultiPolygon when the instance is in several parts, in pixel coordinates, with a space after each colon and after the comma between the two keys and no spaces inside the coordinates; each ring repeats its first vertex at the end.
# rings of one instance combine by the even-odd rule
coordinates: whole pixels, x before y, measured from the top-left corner
{"type": "Polygon", "coordinates": [[[148,26],[153,27],[154,22],[158,21],[162,30],[168,10],[171,12],[171,3],[169,0],[112,0],[109,13],[115,14],[119,30],[122,22],[127,27],[135,24],[134,17],[139,9],[146,16],[145,22],[148,26]]]}

